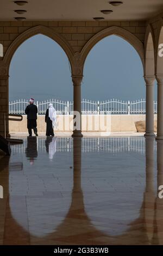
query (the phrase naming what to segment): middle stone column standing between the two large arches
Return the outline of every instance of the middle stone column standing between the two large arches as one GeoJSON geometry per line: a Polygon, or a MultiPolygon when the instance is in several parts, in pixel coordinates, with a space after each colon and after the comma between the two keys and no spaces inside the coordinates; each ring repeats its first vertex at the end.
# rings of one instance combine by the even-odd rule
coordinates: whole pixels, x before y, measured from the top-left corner
{"type": "Polygon", "coordinates": [[[82,113],[81,113],[81,83],[83,76],[73,76],[73,135],[72,137],[82,137],[82,113]]]}

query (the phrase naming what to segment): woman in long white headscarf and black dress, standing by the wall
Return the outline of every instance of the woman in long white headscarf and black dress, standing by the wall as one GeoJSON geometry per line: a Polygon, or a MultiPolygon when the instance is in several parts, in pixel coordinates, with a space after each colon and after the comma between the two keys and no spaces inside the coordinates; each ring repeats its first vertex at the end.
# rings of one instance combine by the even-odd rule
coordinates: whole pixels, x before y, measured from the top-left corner
{"type": "Polygon", "coordinates": [[[54,136],[54,127],[57,125],[57,114],[52,103],[49,103],[49,108],[45,115],[46,121],[46,136],[54,136]]]}

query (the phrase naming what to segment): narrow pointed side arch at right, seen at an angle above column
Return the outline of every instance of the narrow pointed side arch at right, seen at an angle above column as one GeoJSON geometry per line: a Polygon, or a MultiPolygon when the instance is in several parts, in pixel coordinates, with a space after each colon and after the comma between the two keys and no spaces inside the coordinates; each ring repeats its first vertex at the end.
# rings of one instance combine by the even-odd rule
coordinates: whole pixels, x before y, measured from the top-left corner
{"type": "Polygon", "coordinates": [[[154,35],[150,25],[147,27],[145,36],[145,75],[154,76],[155,74],[155,56],[154,56],[154,35]]]}

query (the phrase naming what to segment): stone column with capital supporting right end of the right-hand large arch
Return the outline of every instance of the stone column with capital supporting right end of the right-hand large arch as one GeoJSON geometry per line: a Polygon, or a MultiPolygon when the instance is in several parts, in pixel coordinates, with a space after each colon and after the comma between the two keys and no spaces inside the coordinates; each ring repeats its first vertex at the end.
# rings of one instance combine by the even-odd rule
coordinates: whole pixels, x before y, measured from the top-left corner
{"type": "Polygon", "coordinates": [[[144,76],[146,81],[146,133],[145,136],[155,137],[154,134],[154,76],[144,76]]]}

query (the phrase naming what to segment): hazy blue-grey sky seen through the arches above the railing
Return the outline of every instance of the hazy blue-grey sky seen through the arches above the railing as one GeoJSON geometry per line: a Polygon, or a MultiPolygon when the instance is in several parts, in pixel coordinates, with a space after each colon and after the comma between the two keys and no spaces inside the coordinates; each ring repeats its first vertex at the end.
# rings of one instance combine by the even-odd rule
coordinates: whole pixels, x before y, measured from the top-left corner
{"type": "MultiPolygon", "coordinates": [[[[135,49],[112,35],[87,56],[82,98],[137,100],[145,97],[142,63],[135,49]]],[[[35,35],[15,52],[10,64],[10,100],[72,100],[70,66],[62,48],[44,35],[35,35]]],[[[156,99],[156,86],[155,86],[156,99]]]]}

